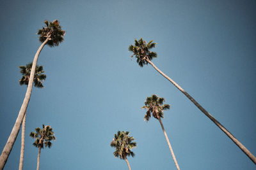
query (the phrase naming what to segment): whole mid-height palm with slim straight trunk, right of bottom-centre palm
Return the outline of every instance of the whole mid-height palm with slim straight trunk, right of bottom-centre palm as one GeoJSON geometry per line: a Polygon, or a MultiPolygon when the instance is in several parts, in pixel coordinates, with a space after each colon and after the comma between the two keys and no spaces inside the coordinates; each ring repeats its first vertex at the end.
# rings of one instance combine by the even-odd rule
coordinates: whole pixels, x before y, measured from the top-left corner
{"type": "Polygon", "coordinates": [[[161,120],[161,118],[164,118],[163,111],[164,110],[169,110],[170,105],[169,104],[163,104],[163,102],[164,102],[164,98],[163,97],[158,97],[158,96],[156,96],[156,94],[153,94],[151,97],[147,97],[147,99],[145,101],[145,106],[142,107],[143,109],[147,110],[146,115],[144,116],[144,120],[148,122],[148,120],[150,119],[151,114],[152,114],[152,116],[159,121],[159,123],[161,124],[162,130],[164,132],[164,136],[165,136],[165,139],[167,141],[167,144],[168,144],[168,146],[170,148],[170,151],[172,153],[172,158],[174,160],[175,166],[179,170],[180,169],[179,164],[176,160],[176,157],[175,157],[174,152],[172,150],[171,143],[170,143],[170,141],[168,139],[168,136],[167,136],[167,134],[164,130],[164,125],[163,125],[162,120],[161,120]]]}

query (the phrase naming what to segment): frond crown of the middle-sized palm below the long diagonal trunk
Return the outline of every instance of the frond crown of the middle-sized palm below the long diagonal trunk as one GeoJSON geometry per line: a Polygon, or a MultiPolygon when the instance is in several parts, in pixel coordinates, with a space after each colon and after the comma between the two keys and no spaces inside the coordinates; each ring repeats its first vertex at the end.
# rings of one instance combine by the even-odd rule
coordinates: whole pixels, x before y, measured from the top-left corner
{"type": "Polygon", "coordinates": [[[163,97],[158,97],[156,94],[153,94],[151,97],[147,97],[145,101],[145,106],[141,109],[147,110],[144,120],[148,122],[151,117],[151,113],[154,118],[164,118],[164,110],[170,109],[170,104],[163,104],[165,99],[163,97]]]}

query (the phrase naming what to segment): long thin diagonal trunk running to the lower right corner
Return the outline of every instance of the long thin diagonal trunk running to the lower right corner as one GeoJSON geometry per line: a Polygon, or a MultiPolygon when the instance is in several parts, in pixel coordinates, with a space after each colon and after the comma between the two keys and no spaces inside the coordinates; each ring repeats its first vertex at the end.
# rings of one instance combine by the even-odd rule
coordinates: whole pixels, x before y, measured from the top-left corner
{"type": "Polygon", "coordinates": [[[199,103],[196,102],[195,99],[193,99],[193,97],[191,97],[184,89],[182,89],[177,83],[175,83],[175,81],[173,81],[172,78],[166,76],[166,74],[164,74],[160,69],[158,69],[153,64],[153,62],[151,62],[148,59],[147,62],[151,64],[151,66],[153,66],[154,69],[156,69],[156,71],[162,74],[167,80],[171,81],[171,83],[173,83],[173,85],[175,85],[175,87],[177,87],[177,89],[179,89],[180,92],[182,92],[186,97],[188,97],[188,99],[191,102],[193,102],[199,110],[201,110],[208,118],[210,118],[212,122],[214,122],[214,124],[216,124],[221,129],[221,131],[223,131],[228,136],[228,138],[230,138],[252,160],[252,162],[254,162],[254,164],[256,164],[256,157],[242,143],[240,143],[223,125],[221,125],[220,122],[218,122],[218,120],[212,117],[212,115],[208,113],[208,111],[206,111],[199,103]]]}

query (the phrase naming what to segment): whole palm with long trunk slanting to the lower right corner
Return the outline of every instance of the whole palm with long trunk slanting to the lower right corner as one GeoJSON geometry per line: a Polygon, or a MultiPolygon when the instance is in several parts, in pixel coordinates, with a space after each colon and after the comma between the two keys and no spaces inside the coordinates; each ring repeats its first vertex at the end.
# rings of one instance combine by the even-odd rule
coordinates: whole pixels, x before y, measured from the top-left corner
{"type": "Polygon", "coordinates": [[[142,38],[139,41],[135,39],[135,44],[129,46],[129,51],[133,53],[131,57],[135,55],[137,58],[137,62],[141,67],[148,63],[151,64],[151,66],[153,66],[154,69],[156,69],[156,71],[158,71],[160,74],[164,76],[164,78],[173,83],[173,85],[175,85],[175,87],[177,87],[177,89],[179,89],[180,92],[182,92],[186,97],[188,97],[188,99],[192,103],[194,103],[199,110],[201,110],[208,118],[210,118],[212,122],[214,122],[214,124],[216,124],[221,129],[221,131],[223,131],[228,136],[228,138],[232,139],[232,141],[254,162],[254,164],[256,164],[256,157],[242,143],[240,143],[223,125],[221,125],[220,122],[216,120],[216,118],[212,117],[210,113],[208,113],[199,103],[197,103],[193,97],[191,97],[184,89],[182,89],[175,81],[173,81],[172,78],[164,74],[160,69],[158,69],[153,64],[153,62],[151,62],[153,58],[157,57],[156,52],[150,51],[150,49],[156,46],[156,43],[152,42],[153,40],[147,43],[146,41],[143,41],[142,38]]]}

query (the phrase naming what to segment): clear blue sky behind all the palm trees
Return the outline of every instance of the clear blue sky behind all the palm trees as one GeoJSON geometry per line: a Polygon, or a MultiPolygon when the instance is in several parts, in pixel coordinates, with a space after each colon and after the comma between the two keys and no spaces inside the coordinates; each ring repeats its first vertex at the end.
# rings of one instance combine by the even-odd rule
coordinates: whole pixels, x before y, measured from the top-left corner
{"type": "MultiPolygon", "coordinates": [[[[58,18],[65,41],[45,46],[45,89],[33,89],[24,169],[38,148],[29,133],[51,125],[56,141],[40,169],[128,169],[109,146],[118,131],[136,139],[132,169],[175,169],[161,126],[143,121],[146,97],[164,97],[163,124],[180,169],[255,169],[255,164],[152,66],[128,46],[154,39],[152,60],[256,154],[256,1],[1,1],[0,150],[25,96],[19,66],[40,46],[36,32],[58,18]]],[[[4,169],[18,169],[20,133],[4,169]]]]}

